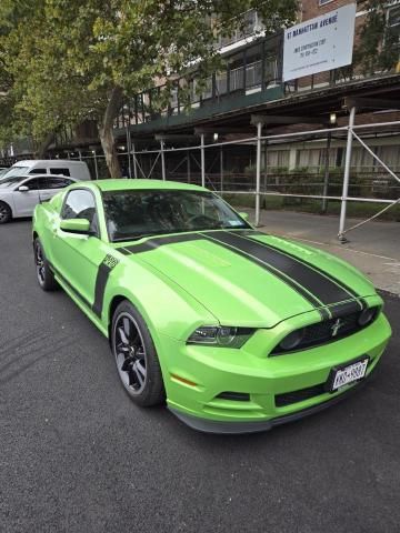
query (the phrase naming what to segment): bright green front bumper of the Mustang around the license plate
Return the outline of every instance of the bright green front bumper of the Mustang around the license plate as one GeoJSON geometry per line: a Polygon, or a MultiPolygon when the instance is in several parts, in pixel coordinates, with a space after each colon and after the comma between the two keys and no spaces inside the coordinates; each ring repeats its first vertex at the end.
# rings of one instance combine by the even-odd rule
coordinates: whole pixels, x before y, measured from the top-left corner
{"type": "Polygon", "coordinates": [[[267,356],[262,346],[271,331],[241,350],[187,345],[162,339],[161,365],[168,406],[193,429],[212,433],[250,433],[312,414],[356,391],[377,366],[391,330],[383,313],[367,329],[336,342],[279,356],[267,356]],[[369,355],[362,382],[339,392],[323,390],[332,368],[369,355]],[[246,401],[221,396],[227,391],[246,395],[246,401]],[[297,392],[316,391],[316,394],[297,392]],[[290,398],[294,394],[294,401],[290,398]],[[288,396],[283,403],[278,399],[288,396]]]}

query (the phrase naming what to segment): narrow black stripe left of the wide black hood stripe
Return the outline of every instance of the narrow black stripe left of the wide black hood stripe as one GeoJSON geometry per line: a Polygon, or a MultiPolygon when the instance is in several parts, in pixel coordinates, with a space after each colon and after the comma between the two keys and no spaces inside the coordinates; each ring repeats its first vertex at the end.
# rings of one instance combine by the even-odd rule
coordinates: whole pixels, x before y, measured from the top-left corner
{"type": "MultiPolygon", "coordinates": [[[[267,272],[271,273],[276,278],[280,279],[283,281],[287,285],[289,285],[293,291],[298,292],[302,298],[304,298],[313,308],[316,308],[322,320],[328,320],[330,319],[329,312],[321,308],[321,303],[309,292],[307,292],[301,285],[299,285],[294,280],[286,275],[282,271],[276,270],[273,266],[267,264],[262,259],[257,258],[256,255],[250,255],[248,252],[244,250],[239,249],[236,245],[229,244],[227,242],[223,242],[222,240],[218,239],[217,233],[219,234],[220,232],[209,232],[209,233],[203,233],[203,238],[211,241],[214,244],[219,244],[241,257],[244,259],[252,261],[253,263],[258,264],[262,269],[267,270],[267,272]]],[[[221,232],[223,234],[228,234],[226,232],[221,232]]]]}

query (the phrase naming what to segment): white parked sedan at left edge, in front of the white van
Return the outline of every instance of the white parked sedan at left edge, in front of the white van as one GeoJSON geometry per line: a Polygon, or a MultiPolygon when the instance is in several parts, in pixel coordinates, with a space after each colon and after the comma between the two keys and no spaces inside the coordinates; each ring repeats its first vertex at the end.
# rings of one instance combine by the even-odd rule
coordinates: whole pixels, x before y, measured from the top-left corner
{"type": "Polygon", "coordinates": [[[50,200],[61,189],[79,180],[63,175],[11,175],[0,180],[0,224],[31,217],[38,203],[50,200]]]}

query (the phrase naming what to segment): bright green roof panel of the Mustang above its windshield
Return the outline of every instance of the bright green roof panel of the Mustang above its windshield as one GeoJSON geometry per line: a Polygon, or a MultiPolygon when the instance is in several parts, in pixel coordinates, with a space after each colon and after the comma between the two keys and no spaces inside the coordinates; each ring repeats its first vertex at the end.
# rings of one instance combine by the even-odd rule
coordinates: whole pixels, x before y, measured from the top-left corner
{"type": "Polygon", "coordinates": [[[189,183],[179,183],[177,181],[163,181],[163,180],[129,180],[129,179],[117,179],[117,180],[96,180],[96,181],[84,181],[80,182],[84,187],[90,187],[91,189],[100,189],[102,192],[109,191],[127,191],[127,190],[143,190],[143,189],[158,189],[158,190],[179,190],[179,191],[207,191],[207,189],[199,185],[191,185],[189,183]]]}

